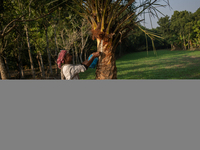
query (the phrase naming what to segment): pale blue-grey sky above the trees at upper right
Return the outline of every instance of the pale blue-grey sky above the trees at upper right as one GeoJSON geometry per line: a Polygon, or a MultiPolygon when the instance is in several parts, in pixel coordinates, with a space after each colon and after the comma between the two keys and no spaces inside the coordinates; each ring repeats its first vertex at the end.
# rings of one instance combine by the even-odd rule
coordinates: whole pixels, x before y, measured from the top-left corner
{"type": "MultiPolygon", "coordinates": [[[[169,0],[170,6],[166,6],[165,8],[158,8],[159,11],[161,11],[164,15],[168,15],[170,18],[173,15],[174,11],[190,11],[194,13],[199,7],[200,7],[200,0],[169,0]]],[[[164,2],[160,2],[160,4],[166,4],[164,2]]],[[[163,15],[159,14],[159,17],[164,17],[163,15]]],[[[158,26],[157,24],[157,17],[152,17],[152,26],[153,28],[156,28],[158,26]]],[[[145,27],[152,29],[151,22],[149,19],[149,15],[145,16],[145,27]]],[[[144,23],[142,23],[144,25],[144,23]]]]}

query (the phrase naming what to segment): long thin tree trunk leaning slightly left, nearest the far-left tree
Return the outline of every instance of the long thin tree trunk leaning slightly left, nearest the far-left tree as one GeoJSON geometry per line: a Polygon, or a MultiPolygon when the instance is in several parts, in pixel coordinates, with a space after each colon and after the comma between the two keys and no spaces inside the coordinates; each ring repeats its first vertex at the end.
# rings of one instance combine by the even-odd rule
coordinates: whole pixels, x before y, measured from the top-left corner
{"type": "Polygon", "coordinates": [[[25,28],[25,31],[26,31],[26,39],[27,39],[27,44],[28,44],[28,54],[29,54],[30,63],[31,63],[32,77],[35,79],[35,70],[34,70],[33,58],[32,58],[32,55],[31,55],[31,45],[30,45],[30,41],[29,41],[27,25],[25,25],[24,28],[25,28]]]}

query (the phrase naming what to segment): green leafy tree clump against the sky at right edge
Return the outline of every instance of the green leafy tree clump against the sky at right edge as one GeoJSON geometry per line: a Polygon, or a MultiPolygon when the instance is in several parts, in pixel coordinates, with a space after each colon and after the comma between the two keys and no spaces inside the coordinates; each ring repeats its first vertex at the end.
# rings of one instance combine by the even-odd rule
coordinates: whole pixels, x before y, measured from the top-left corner
{"type": "Polygon", "coordinates": [[[196,12],[174,11],[171,16],[159,19],[156,30],[175,49],[196,49],[200,47],[199,35],[200,8],[196,12]]]}

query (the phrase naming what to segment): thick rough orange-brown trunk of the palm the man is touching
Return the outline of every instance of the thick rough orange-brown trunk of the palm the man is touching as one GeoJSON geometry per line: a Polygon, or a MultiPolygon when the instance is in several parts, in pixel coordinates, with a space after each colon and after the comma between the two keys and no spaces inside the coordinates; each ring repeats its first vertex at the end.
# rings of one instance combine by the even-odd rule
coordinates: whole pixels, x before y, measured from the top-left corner
{"type": "Polygon", "coordinates": [[[102,52],[96,68],[96,79],[117,79],[117,67],[112,42],[97,39],[97,51],[102,52]],[[105,43],[105,44],[104,44],[105,43]]]}

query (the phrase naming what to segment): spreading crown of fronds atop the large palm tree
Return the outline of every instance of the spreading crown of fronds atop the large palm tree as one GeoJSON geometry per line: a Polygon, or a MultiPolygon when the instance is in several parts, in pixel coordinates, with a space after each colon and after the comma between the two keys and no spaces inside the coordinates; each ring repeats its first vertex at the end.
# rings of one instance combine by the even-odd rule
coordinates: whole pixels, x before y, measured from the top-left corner
{"type": "MultiPolygon", "coordinates": [[[[138,27],[145,33],[145,37],[149,37],[152,42],[155,38],[162,38],[161,36],[152,33],[140,26],[138,16],[149,13],[149,16],[158,17],[158,7],[165,7],[169,5],[169,0],[163,0],[167,5],[162,5],[158,0],[140,0],[139,5],[136,6],[135,0],[129,0],[125,5],[122,5],[122,0],[72,0],[76,6],[80,9],[76,9],[72,6],[75,12],[87,18],[88,22],[92,26],[93,34],[101,34],[102,38],[112,38],[113,43],[117,44],[120,33],[123,35],[123,39],[130,34],[133,34],[135,27],[138,27]],[[132,8],[134,4],[135,7],[132,8]],[[132,8],[132,9],[129,9],[132,8]],[[130,34],[129,34],[130,33],[130,34]]],[[[144,18],[145,19],[145,18],[144,18]]],[[[150,20],[151,21],[151,20],[150,20]]],[[[152,21],[151,21],[152,22],[152,21]]],[[[152,24],[152,23],[151,23],[152,24]]],[[[98,38],[99,36],[95,36],[98,38]]],[[[154,47],[154,44],[152,44],[154,47]]],[[[148,48],[148,46],[147,46],[148,48]]]]}

